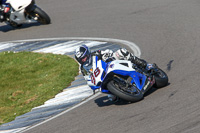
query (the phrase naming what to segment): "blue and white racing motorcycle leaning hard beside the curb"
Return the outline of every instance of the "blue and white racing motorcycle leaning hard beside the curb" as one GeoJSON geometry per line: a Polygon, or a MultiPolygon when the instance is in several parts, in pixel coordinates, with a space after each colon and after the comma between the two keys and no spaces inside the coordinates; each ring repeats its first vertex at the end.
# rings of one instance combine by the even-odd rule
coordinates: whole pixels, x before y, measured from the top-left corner
{"type": "Polygon", "coordinates": [[[120,99],[129,102],[136,102],[143,99],[144,94],[153,86],[160,88],[168,84],[167,74],[156,64],[151,72],[127,60],[112,60],[104,62],[93,56],[88,76],[88,85],[94,91],[114,94],[120,99]]]}

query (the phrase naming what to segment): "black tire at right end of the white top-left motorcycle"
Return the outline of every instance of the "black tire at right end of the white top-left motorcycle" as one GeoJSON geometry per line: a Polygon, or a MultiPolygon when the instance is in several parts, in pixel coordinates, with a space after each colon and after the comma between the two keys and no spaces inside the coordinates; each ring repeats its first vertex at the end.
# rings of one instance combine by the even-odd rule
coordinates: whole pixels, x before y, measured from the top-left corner
{"type": "Polygon", "coordinates": [[[33,11],[34,16],[37,17],[37,21],[41,24],[50,24],[51,19],[50,17],[39,7],[36,7],[35,10],[33,11]]]}

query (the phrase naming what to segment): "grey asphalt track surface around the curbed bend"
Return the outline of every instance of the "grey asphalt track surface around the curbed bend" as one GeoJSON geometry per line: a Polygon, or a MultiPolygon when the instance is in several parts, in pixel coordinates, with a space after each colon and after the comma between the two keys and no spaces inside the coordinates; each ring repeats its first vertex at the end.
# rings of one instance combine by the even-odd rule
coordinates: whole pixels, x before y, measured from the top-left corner
{"type": "Polygon", "coordinates": [[[50,37],[117,38],[136,43],[170,84],[144,100],[111,104],[100,95],[27,133],[199,133],[199,0],[37,0],[51,25],[0,25],[1,41],[50,37]]]}

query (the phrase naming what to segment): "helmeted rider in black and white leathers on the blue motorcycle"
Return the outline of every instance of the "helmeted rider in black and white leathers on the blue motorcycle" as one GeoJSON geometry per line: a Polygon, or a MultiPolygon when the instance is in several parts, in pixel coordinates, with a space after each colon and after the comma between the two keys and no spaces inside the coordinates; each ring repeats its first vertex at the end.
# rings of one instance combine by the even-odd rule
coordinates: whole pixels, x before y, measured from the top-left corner
{"type": "MultiPolygon", "coordinates": [[[[82,45],[78,47],[75,51],[75,59],[80,63],[80,70],[83,76],[87,76],[91,73],[91,65],[92,65],[92,56],[98,56],[99,59],[102,59],[105,62],[109,62],[112,60],[129,60],[134,63],[139,68],[144,68],[146,70],[150,70],[152,67],[151,64],[148,64],[145,60],[140,59],[134,56],[133,53],[130,53],[125,48],[120,48],[116,52],[112,50],[106,49],[104,51],[97,50],[91,52],[90,49],[86,45],[82,45]]],[[[108,95],[111,101],[116,100],[116,96],[108,95]]]]}

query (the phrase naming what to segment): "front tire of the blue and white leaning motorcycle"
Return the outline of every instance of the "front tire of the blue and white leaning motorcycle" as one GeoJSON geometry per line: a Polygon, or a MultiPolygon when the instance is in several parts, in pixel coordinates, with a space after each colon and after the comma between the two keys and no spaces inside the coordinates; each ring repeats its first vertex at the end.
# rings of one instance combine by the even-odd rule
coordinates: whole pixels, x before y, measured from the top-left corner
{"type": "Polygon", "coordinates": [[[119,97],[123,100],[129,101],[129,102],[137,102],[137,101],[143,99],[143,94],[139,89],[137,89],[137,94],[131,94],[131,93],[125,92],[124,90],[118,88],[117,85],[115,85],[115,84],[117,84],[117,82],[111,80],[107,84],[107,88],[112,94],[116,95],[117,97],[119,97]]]}

